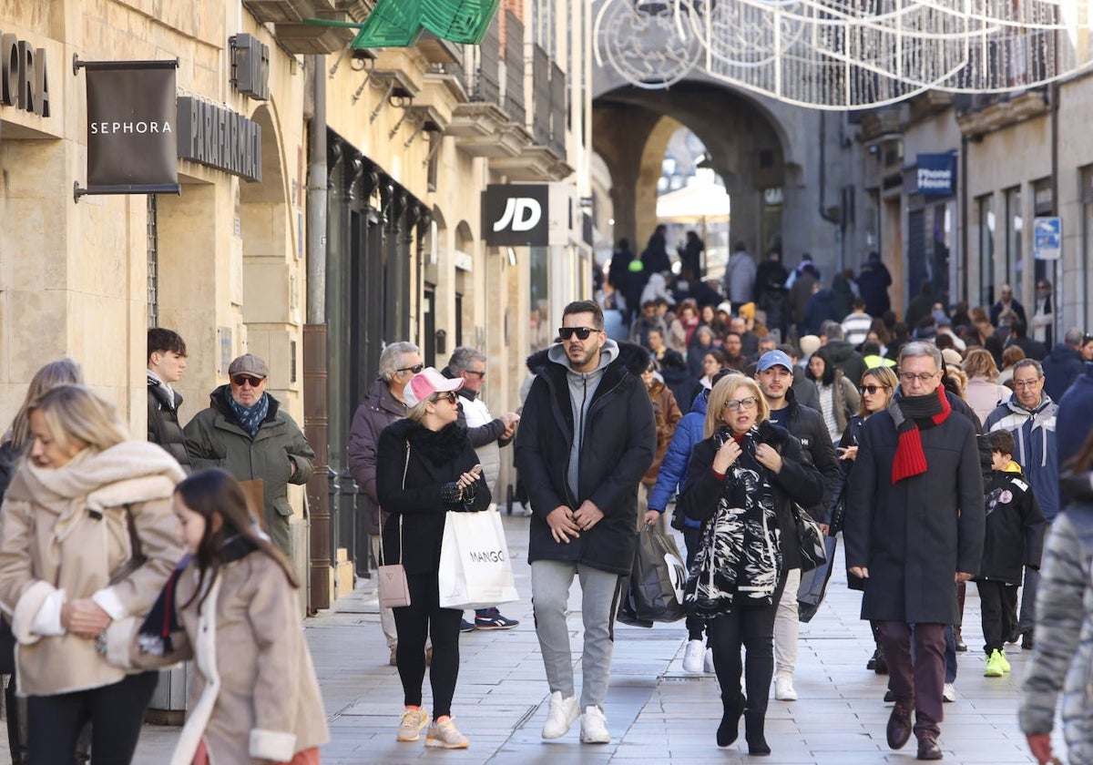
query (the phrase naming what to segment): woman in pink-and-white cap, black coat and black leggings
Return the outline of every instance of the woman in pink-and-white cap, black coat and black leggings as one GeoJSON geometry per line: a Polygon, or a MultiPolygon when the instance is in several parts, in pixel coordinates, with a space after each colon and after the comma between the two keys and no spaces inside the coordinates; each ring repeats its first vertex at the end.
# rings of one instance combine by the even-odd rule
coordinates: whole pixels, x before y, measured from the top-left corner
{"type": "Polygon", "coordinates": [[[425,638],[430,636],[433,725],[425,745],[443,749],[468,745],[451,721],[463,612],[439,607],[437,572],[445,514],[484,510],[490,504],[490,489],[482,480],[474,448],[467,431],[456,423],[456,391],[462,385],[461,379],[448,379],[433,367],[414,375],[403,391],[407,419],[384,428],[376,450],[376,495],[390,514],[384,523],[384,563],[402,563],[410,585],[410,604],[393,610],[406,704],[397,739],[416,741],[430,720],[421,706],[425,638]]]}

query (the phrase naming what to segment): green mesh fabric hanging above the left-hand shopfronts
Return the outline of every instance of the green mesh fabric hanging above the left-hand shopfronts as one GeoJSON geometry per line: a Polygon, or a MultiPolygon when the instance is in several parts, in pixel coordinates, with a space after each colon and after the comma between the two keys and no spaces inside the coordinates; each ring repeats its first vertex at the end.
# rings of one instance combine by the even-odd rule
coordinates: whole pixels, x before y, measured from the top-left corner
{"type": "Polygon", "coordinates": [[[326,19],[305,23],[357,30],[353,48],[407,48],[425,30],[451,43],[478,45],[500,4],[501,0],[377,0],[363,24],[326,19]]]}

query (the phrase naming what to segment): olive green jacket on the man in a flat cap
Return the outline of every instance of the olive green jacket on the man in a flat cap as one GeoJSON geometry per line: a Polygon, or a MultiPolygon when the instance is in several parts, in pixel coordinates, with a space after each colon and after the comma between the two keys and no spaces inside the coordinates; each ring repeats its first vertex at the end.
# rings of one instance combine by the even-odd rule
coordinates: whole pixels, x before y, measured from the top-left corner
{"type": "MultiPolygon", "coordinates": [[[[227,403],[230,386],[222,385],[209,397],[209,409],[193,415],[183,433],[193,472],[222,468],[239,481],[262,480],[267,528],[275,516],[292,515],[290,483],[307,483],[315,469],[315,451],[299,426],[281,411],[272,396],[269,414],[254,439],[239,426],[227,403]],[[292,472],[289,459],[296,463],[292,472]],[[290,474],[291,473],[291,474],[290,474]]],[[[267,393],[269,396],[269,393],[267,393]]]]}

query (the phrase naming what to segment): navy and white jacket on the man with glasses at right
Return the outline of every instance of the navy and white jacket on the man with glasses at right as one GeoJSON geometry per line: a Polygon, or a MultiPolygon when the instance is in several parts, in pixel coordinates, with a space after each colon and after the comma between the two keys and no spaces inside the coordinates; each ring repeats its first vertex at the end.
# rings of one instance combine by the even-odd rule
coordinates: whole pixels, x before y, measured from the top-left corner
{"type": "Polygon", "coordinates": [[[1013,434],[1018,448],[1013,459],[1039,499],[1048,521],[1059,515],[1059,449],[1055,440],[1056,414],[1059,404],[1047,393],[1041,395],[1033,410],[1022,407],[1016,397],[999,405],[987,416],[983,429],[1006,429],[1013,434]]]}

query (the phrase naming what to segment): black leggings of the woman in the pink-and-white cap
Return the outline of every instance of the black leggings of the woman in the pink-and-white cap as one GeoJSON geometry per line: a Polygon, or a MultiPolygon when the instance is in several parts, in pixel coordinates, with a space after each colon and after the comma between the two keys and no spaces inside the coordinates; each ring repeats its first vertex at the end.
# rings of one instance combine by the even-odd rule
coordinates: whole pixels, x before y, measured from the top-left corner
{"type": "Polygon", "coordinates": [[[410,605],[395,609],[399,634],[397,663],[407,706],[421,706],[425,679],[425,638],[433,638],[428,682],[433,687],[433,719],[451,714],[451,697],[459,676],[459,623],[463,612],[442,609],[436,574],[408,575],[410,605]]]}

